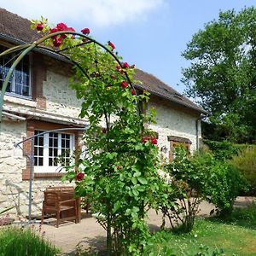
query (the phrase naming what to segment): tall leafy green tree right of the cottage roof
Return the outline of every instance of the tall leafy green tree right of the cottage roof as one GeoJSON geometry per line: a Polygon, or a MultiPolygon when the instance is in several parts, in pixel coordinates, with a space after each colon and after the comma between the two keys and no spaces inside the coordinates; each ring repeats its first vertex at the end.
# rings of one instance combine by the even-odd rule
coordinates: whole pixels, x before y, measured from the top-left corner
{"type": "Polygon", "coordinates": [[[218,139],[256,138],[256,9],[220,12],[187,44],[185,93],[209,113],[218,139]]]}

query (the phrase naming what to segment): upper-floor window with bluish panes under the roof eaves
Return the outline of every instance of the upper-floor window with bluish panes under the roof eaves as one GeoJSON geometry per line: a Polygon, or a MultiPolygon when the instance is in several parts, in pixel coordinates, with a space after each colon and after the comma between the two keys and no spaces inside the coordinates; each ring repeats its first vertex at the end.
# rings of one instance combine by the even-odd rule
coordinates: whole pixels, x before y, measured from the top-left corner
{"type": "MultiPolygon", "coordinates": [[[[0,52],[3,52],[6,47],[0,45],[0,52]]],[[[0,58],[0,89],[2,89],[3,81],[9,72],[13,61],[15,61],[15,55],[4,55],[0,58]]],[[[31,68],[30,68],[30,56],[26,55],[16,66],[14,72],[9,79],[6,92],[10,95],[31,97],[31,68]]]]}

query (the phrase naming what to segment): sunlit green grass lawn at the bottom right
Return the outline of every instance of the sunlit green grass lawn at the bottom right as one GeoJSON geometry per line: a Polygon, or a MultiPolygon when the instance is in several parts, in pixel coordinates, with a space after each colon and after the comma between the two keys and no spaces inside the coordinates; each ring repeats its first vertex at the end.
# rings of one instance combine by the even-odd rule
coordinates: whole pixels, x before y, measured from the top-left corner
{"type": "Polygon", "coordinates": [[[225,223],[197,218],[191,234],[161,231],[155,234],[148,255],[256,255],[256,215],[252,216],[254,219],[245,220],[242,219],[247,218],[244,212],[234,213],[225,223]],[[220,253],[220,249],[224,253],[220,253]],[[214,254],[214,250],[219,253],[214,254]],[[197,254],[199,252],[204,253],[197,254]]]}

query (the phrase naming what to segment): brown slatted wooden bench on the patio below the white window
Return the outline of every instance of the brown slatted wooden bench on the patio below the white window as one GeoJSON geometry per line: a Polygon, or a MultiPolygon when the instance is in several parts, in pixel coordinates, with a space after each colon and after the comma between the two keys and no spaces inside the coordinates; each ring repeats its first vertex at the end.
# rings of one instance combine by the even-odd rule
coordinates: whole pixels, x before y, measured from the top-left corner
{"type": "Polygon", "coordinates": [[[57,228],[62,221],[80,222],[80,198],[74,197],[73,187],[62,186],[45,189],[41,224],[44,223],[44,217],[48,214],[55,216],[57,228]]]}

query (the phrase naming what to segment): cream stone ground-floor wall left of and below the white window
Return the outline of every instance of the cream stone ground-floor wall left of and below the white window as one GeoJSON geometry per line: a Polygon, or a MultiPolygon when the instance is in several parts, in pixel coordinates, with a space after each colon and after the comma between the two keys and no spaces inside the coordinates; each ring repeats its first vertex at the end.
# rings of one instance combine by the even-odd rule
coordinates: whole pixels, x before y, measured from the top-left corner
{"type": "MultiPolygon", "coordinates": [[[[26,122],[1,123],[0,133],[0,210],[15,207],[10,211],[25,217],[28,214],[29,181],[22,180],[22,169],[26,168],[26,156],[14,143],[26,137],[26,122]]],[[[22,148],[22,144],[20,145],[22,148]]],[[[40,213],[44,189],[63,185],[60,177],[35,179],[32,181],[32,213],[40,213]]]]}

